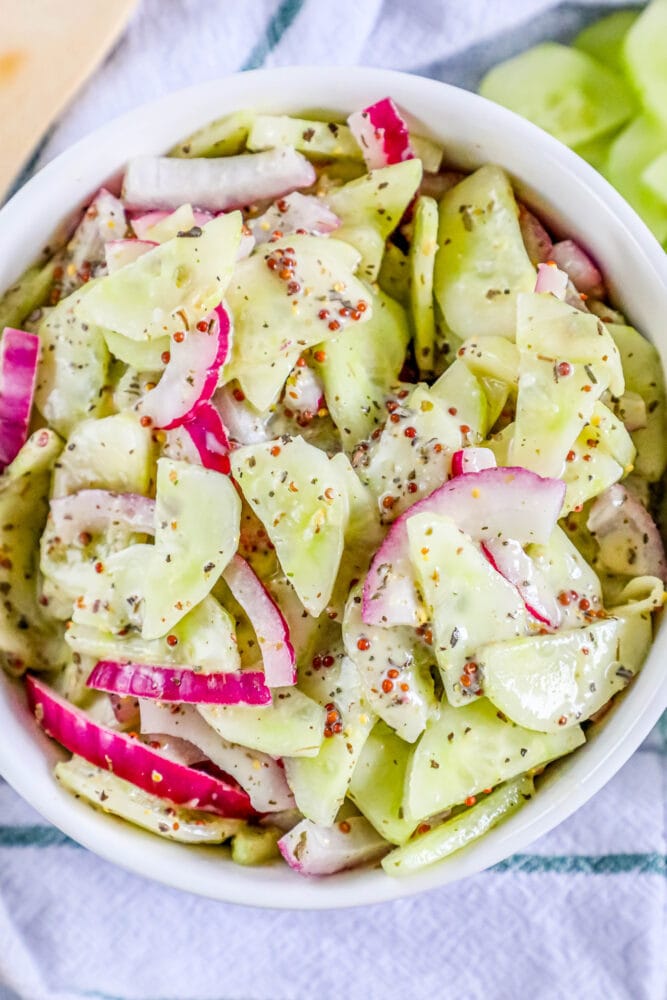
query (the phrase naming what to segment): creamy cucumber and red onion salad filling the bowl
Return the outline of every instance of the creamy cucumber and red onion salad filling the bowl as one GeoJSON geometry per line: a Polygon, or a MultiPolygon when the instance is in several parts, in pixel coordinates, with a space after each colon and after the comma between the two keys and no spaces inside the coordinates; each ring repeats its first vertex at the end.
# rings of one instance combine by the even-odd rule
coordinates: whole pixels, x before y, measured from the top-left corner
{"type": "Polygon", "coordinates": [[[658,355],[500,167],[446,156],[390,99],[240,112],[0,301],[2,662],[95,808],[408,875],[641,669],[658,355]]]}

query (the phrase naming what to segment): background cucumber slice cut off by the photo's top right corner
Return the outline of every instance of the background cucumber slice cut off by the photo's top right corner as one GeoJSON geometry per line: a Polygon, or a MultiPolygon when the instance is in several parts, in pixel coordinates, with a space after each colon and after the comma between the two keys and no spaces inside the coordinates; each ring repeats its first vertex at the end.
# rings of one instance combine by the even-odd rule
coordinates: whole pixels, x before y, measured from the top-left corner
{"type": "Polygon", "coordinates": [[[653,0],[625,37],[625,67],[644,106],[667,125],[667,0],[653,0]]]}

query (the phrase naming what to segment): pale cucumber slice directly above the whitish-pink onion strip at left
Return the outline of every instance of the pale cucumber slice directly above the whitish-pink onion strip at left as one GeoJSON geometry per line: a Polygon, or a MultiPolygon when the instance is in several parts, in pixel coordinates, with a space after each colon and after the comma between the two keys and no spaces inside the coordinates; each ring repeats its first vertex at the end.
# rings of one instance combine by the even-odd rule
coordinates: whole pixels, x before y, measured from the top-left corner
{"type": "Polygon", "coordinates": [[[134,413],[83,420],[56,462],[53,496],[82,489],[149,494],[155,476],[151,432],[134,413]]]}

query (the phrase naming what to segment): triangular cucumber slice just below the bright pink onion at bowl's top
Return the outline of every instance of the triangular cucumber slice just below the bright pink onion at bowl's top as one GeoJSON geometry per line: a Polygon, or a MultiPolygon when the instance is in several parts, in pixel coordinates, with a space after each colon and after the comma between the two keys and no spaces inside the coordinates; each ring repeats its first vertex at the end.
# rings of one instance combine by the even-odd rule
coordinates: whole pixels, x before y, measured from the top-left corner
{"type": "Polygon", "coordinates": [[[327,202],[342,220],[336,238],[361,254],[360,274],[375,281],[384,244],[400,223],[422,179],[420,160],[405,160],[370,173],[331,191],[327,202]]]}

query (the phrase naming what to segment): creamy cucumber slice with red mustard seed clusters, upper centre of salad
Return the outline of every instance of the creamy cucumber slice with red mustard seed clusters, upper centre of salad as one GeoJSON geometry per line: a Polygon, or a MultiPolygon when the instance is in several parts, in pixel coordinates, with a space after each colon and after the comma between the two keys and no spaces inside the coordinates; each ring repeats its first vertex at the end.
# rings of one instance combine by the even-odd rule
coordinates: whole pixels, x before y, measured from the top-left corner
{"type": "Polygon", "coordinates": [[[224,378],[237,378],[256,409],[266,410],[276,401],[307,347],[346,328],[362,335],[372,307],[368,289],[354,277],[358,263],[357,251],[340,239],[293,235],[259,247],[236,266],[227,296],[234,342],[224,378]],[[284,257],[294,261],[291,272],[278,267],[284,257]],[[354,310],[358,319],[336,318],[341,308],[354,310]]]}

